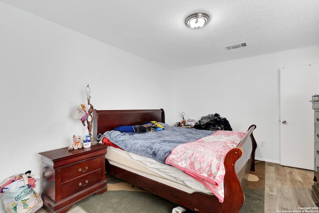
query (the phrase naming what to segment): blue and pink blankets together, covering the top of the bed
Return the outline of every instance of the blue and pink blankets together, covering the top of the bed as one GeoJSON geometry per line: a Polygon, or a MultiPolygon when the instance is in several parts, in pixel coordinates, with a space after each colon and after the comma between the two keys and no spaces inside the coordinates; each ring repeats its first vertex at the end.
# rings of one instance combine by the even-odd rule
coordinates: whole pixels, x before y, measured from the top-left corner
{"type": "Polygon", "coordinates": [[[245,133],[203,132],[203,130],[171,127],[164,123],[160,125],[163,131],[158,134],[119,133],[116,131],[118,128],[115,128],[103,136],[125,151],[180,169],[206,186],[222,203],[224,159],[229,150],[239,144],[245,133]],[[196,133],[195,138],[194,133],[196,133]]]}

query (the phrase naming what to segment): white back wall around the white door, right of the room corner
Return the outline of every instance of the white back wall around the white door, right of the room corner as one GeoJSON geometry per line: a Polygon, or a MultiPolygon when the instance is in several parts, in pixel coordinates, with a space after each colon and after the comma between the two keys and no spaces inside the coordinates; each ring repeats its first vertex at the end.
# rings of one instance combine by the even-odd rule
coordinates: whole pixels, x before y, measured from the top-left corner
{"type": "Polygon", "coordinates": [[[256,159],[280,163],[280,68],[316,63],[319,46],[175,71],[174,119],[181,112],[195,120],[218,113],[234,131],[256,124],[257,143],[266,141],[256,159]]]}

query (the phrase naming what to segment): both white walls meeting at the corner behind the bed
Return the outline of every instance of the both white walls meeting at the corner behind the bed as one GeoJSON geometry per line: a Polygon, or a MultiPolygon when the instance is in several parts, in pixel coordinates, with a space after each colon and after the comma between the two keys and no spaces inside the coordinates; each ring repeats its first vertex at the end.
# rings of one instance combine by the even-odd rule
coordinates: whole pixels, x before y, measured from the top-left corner
{"type": "Polygon", "coordinates": [[[40,174],[39,152],[84,137],[72,116],[86,104],[87,84],[96,109],[163,108],[168,124],[181,112],[196,120],[219,113],[235,131],[256,124],[256,139],[266,141],[257,158],[279,163],[279,69],[319,63],[313,46],[168,72],[1,2],[0,29],[0,182],[40,174]]]}

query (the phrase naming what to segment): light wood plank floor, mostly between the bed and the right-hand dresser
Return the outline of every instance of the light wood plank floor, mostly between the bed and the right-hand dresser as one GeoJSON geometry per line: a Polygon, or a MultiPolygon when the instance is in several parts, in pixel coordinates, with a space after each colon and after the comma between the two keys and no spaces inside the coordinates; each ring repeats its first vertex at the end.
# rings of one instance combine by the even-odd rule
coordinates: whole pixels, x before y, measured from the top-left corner
{"type": "MultiPolygon", "coordinates": [[[[314,171],[285,167],[266,162],[265,213],[284,210],[298,211],[299,207],[317,207],[311,198],[314,171]]],[[[256,213],[262,211],[256,210],[256,213]]],[[[37,213],[47,213],[44,209],[37,213]]],[[[85,213],[73,205],[68,213],[85,213]]]]}

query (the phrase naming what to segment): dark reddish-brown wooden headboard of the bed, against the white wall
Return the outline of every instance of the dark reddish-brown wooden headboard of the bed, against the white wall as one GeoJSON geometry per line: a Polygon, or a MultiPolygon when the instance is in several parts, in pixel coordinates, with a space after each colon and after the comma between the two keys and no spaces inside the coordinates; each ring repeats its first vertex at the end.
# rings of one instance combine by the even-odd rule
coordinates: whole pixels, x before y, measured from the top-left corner
{"type": "Polygon", "coordinates": [[[142,110],[94,110],[93,138],[99,133],[113,130],[118,126],[132,126],[146,124],[150,121],[165,123],[163,109],[142,110]]]}

